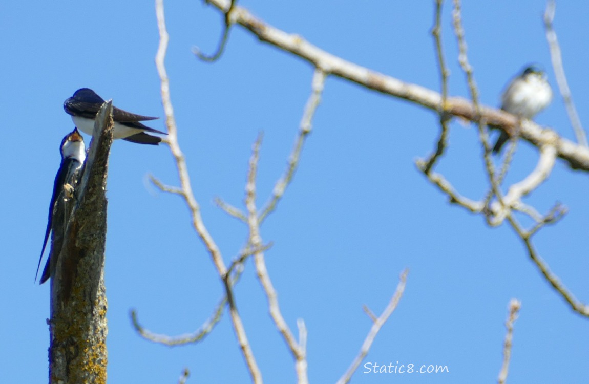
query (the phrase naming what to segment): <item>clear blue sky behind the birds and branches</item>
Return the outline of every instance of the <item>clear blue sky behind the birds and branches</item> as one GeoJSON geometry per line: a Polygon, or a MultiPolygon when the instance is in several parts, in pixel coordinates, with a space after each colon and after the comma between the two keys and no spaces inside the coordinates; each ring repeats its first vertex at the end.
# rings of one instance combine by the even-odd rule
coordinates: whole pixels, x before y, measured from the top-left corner
{"type": "MultiPolygon", "coordinates": [[[[403,81],[439,90],[429,35],[432,1],[240,1],[274,27],[300,34],[332,54],[403,81]]],[[[466,96],[444,11],[444,45],[451,95],[466,96]]],[[[548,68],[542,1],[465,2],[469,59],[481,100],[497,105],[505,82],[529,62],[548,68]]],[[[589,121],[589,6],[561,2],[555,28],[581,121],[589,121]]],[[[282,174],[309,96],[313,68],[262,44],[240,27],[220,61],[212,52],[221,16],[200,2],[168,2],[166,60],[178,136],[204,222],[226,261],[246,239],[246,227],[213,204],[240,205],[250,147],[264,141],[259,203],[282,174]]],[[[33,283],[59,143],[72,130],[62,102],[81,87],[125,110],[163,117],[154,55],[158,44],[151,2],[4,2],[0,5],[0,105],[4,167],[0,219],[0,380],[47,379],[49,286],[33,283]]],[[[557,95],[538,123],[573,138],[557,95]]],[[[587,382],[589,320],[575,315],[528,260],[511,229],[489,229],[482,217],[448,204],[416,170],[429,154],[438,118],[407,102],[328,78],[299,170],[277,211],[262,227],[273,241],[267,266],[283,315],[296,333],[305,320],[309,378],[335,382],[370,327],[366,304],[380,313],[398,275],[409,268],[405,294],[366,362],[447,365],[437,375],[353,377],[357,383],[489,382],[497,378],[507,304],[522,302],[515,324],[510,382],[587,382]],[[401,377],[398,377],[401,376],[401,377]]],[[[159,120],[154,128],[163,129],[159,120]]],[[[86,137],[87,143],[90,140],[86,137]]],[[[471,198],[485,193],[474,127],[452,123],[450,147],[437,168],[471,198]]],[[[536,151],[522,143],[508,182],[527,174],[536,151]]],[[[198,345],[164,347],[137,336],[128,313],[158,333],[192,332],[210,316],[221,284],[177,196],[160,193],[148,174],[176,184],[166,146],[124,141],[112,146],[107,183],[105,283],[110,382],[173,383],[183,368],[190,382],[247,382],[230,321],[224,316],[198,345]]],[[[550,180],[526,201],[547,211],[561,201],[570,213],[535,237],[551,269],[580,300],[589,300],[587,236],[589,181],[558,161],[550,180]]],[[[253,265],[236,289],[253,352],[270,383],[295,382],[293,362],[267,315],[253,265]]]]}

